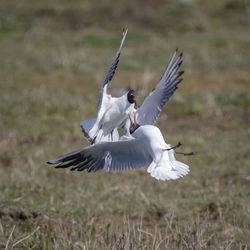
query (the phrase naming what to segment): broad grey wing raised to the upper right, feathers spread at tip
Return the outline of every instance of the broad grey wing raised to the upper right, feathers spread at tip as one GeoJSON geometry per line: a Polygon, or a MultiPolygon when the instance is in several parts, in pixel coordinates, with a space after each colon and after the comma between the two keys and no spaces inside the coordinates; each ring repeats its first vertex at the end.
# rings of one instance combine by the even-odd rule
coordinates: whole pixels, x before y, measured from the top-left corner
{"type": "Polygon", "coordinates": [[[137,110],[137,122],[140,125],[153,125],[163,106],[177,89],[182,81],[179,77],[184,71],[178,72],[182,64],[182,53],[176,58],[177,50],[174,52],[165,73],[156,88],[147,96],[141,107],[137,110]],[[176,58],[176,59],[175,59],[176,58]]]}

